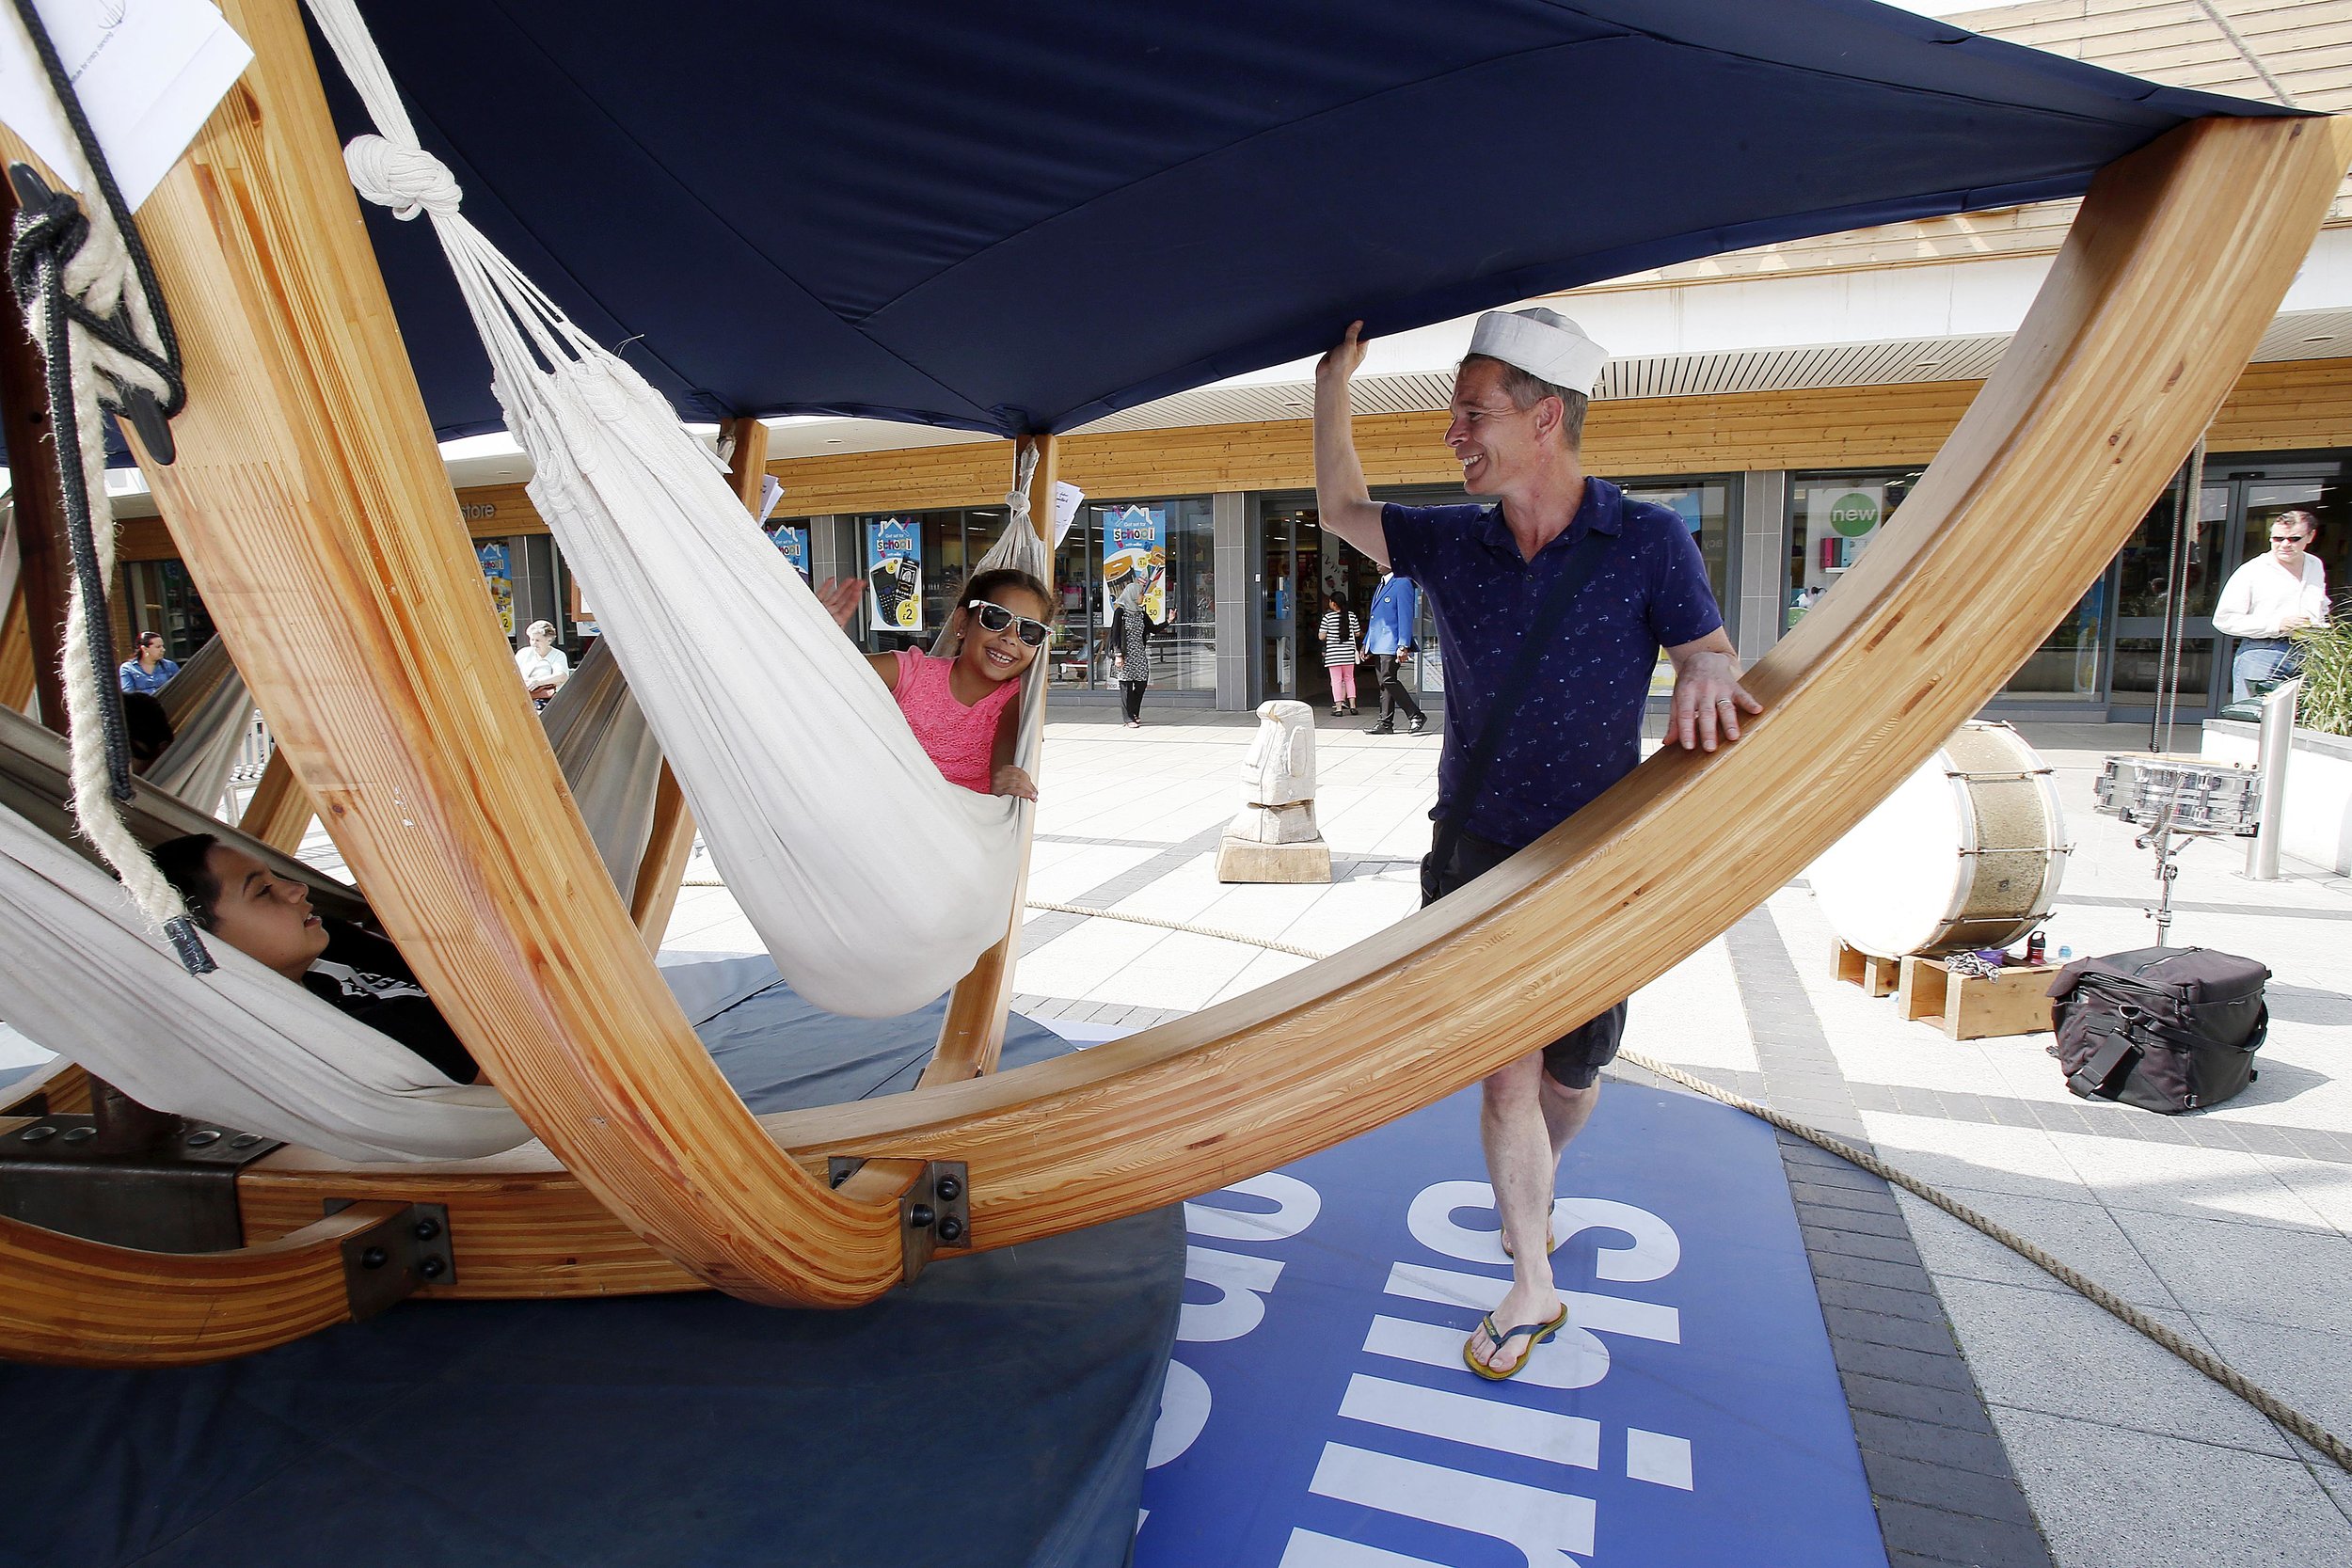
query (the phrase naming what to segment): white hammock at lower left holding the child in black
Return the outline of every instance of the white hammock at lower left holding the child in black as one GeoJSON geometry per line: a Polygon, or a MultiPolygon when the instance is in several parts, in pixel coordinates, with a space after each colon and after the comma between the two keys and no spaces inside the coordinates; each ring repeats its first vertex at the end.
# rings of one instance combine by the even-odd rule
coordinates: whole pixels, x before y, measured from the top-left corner
{"type": "Polygon", "coordinates": [[[228,943],[191,976],[113,877],[0,809],[0,1018],[158,1110],[343,1159],[473,1159],[529,1143],[452,1084],[228,943]]]}

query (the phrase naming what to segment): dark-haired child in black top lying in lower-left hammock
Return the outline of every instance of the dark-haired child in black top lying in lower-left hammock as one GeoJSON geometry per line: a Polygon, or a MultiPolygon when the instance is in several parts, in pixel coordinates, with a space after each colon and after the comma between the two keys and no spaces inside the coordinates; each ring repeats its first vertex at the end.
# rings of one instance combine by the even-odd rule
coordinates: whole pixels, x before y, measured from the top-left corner
{"type": "Polygon", "coordinates": [[[372,931],[315,914],[303,884],[209,832],[158,844],[155,870],[179,889],[198,929],[390,1034],[454,1084],[482,1079],[400,950],[372,931]]]}

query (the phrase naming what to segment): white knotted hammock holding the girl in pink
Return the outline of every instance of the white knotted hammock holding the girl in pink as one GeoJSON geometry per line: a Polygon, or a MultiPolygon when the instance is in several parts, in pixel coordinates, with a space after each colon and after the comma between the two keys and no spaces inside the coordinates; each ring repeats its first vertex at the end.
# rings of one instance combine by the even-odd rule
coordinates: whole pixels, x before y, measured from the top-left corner
{"type": "MultiPolygon", "coordinates": [[[[346,150],[353,183],[402,219],[430,214],[536,468],[532,501],[776,969],[833,1013],[931,1001],[1004,936],[1021,802],[941,778],[677,411],[463,219],[350,0],[310,9],[381,132],[346,150]]],[[[1018,484],[1007,503],[993,559],[1042,576],[1018,484]]]]}

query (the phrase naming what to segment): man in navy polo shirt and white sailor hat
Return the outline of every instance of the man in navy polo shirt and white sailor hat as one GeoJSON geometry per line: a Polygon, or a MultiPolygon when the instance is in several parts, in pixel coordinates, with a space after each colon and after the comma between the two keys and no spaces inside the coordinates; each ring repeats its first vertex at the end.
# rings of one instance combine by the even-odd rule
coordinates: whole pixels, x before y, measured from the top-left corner
{"type": "MultiPolygon", "coordinates": [[[[1463,487],[1496,505],[1381,505],[1355,454],[1348,378],[1364,360],[1362,322],[1315,367],[1315,496],[1322,527],[1414,578],[1437,618],[1446,661],[1446,745],[1437,762],[1439,823],[1458,818],[1446,863],[1423,860],[1432,903],[1536,842],[1642,759],[1642,710],[1665,649],[1675,663],[1672,736],[1715,750],[1738,715],[1762,712],[1740,686],[1738,654],[1682,517],[1628,501],[1583,470],[1585,400],[1606,353],[1552,310],[1489,310],[1454,378],[1446,447],[1463,487]],[[1496,715],[1545,588],[1588,534],[1606,536],[1590,578],[1538,656],[1524,698],[1496,715]],[[1475,799],[1465,771],[1491,722],[1498,748],[1475,799]]],[[[1510,1378],[1559,1331],[1550,1213],[1559,1157],[1592,1117],[1602,1063],[1616,1056],[1625,1004],[1505,1065],[1484,1081],[1479,1133],[1494,1180],[1510,1293],[1463,1347],[1470,1371],[1510,1378]]]]}

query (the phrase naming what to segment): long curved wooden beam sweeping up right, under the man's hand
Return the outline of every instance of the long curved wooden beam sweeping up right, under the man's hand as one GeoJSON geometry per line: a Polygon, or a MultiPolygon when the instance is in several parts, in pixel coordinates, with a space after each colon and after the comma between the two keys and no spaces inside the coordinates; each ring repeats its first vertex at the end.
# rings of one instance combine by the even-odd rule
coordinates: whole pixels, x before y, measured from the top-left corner
{"type": "Polygon", "coordinates": [[[1860,820],[2039,646],[2253,353],[2345,120],[2204,120],[2100,174],[1900,515],[1668,750],[1501,870],[1268,987],[990,1079],[769,1117],[802,1154],[962,1159],[976,1246],[1209,1192],[1477,1081],[1679,964],[1860,820]]]}

